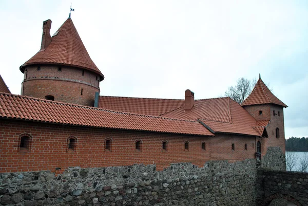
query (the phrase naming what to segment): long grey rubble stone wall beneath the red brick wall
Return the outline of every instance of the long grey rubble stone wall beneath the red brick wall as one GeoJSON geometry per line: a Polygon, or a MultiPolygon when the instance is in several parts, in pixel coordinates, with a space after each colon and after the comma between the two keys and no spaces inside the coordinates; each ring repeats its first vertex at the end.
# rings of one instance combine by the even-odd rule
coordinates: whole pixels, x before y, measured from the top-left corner
{"type": "Polygon", "coordinates": [[[256,161],[209,161],[0,174],[0,205],[249,205],[256,161]]]}

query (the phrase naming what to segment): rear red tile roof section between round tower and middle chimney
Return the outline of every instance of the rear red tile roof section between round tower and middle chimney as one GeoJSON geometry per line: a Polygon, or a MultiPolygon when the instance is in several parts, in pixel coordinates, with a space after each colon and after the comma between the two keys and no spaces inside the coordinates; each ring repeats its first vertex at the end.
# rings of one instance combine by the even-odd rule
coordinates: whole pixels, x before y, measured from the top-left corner
{"type": "MultiPolygon", "coordinates": [[[[184,100],[100,96],[99,107],[141,115],[160,116],[184,106],[184,100]]],[[[178,119],[178,118],[177,118],[178,119]]]]}

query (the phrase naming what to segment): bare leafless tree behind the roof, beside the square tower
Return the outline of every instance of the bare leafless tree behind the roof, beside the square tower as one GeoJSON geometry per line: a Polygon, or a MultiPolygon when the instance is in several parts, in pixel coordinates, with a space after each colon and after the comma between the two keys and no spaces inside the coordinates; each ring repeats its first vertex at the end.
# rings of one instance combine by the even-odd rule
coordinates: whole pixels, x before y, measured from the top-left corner
{"type": "Polygon", "coordinates": [[[233,99],[239,104],[242,104],[253,89],[253,83],[245,78],[238,79],[236,85],[229,87],[225,92],[225,96],[233,99]]]}

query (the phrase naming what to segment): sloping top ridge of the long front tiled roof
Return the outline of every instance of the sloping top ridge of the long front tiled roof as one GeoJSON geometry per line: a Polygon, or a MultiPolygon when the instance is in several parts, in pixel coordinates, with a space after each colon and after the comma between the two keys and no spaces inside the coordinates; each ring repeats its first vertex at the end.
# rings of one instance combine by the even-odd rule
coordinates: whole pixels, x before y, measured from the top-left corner
{"type": "Polygon", "coordinates": [[[46,100],[46,99],[41,99],[41,98],[34,98],[34,97],[23,96],[23,95],[15,95],[15,94],[6,93],[6,92],[0,92],[0,95],[7,95],[7,96],[13,96],[13,97],[20,97],[20,98],[27,98],[27,99],[33,99],[33,100],[38,100],[38,101],[42,101],[42,102],[55,103],[55,104],[59,104],[59,105],[75,106],[75,107],[88,108],[88,109],[94,109],[94,110],[100,110],[100,111],[107,111],[107,112],[110,112],[110,113],[118,113],[118,114],[124,114],[124,115],[126,114],[126,115],[134,115],[134,116],[139,116],[139,117],[151,117],[151,118],[157,118],[157,119],[167,119],[167,120],[176,120],[176,121],[184,121],[184,122],[198,122],[198,121],[193,121],[193,120],[172,119],[172,118],[158,117],[158,116],[151,116],[151,115],[126,113],[126,112],[123,112],[123,111],[114,111],[114,110],[103,109],[103,108],[99,108],[99,107],[91,107],[91,106],[85,106],[85,105],[80,105],[80,104],[58,102],[58,101],[46,100]]]}

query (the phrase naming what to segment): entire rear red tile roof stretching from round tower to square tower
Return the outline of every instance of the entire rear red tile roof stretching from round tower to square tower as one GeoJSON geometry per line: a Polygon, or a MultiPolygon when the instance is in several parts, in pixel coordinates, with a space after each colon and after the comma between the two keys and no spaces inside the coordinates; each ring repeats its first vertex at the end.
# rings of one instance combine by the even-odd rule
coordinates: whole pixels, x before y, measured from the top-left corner
{"type": "Polygon", "coordinates": [[[99,107],[170,119],[199,120],[213,129],[213,132],[260,136],[253,128],[258,126],[257,121],[228,97],[195,100],[191,111],[185,111],[184,100],[172,99],[100,97],[99,107]]]}

